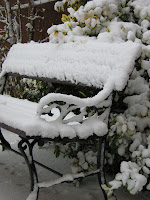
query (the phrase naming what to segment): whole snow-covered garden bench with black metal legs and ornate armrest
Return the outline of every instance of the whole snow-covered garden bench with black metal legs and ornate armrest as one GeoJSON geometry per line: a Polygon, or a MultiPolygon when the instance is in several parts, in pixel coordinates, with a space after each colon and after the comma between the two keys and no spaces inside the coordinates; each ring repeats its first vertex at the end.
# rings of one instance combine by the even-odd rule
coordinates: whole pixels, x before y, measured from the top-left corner
{"type": "MultiPolygon", "coordinates": [[[[102,43],[93,38],[66,44],[31,42],[15,44],[11,47],[0,74],[2,93],[0,95],[0,127],[21,138],[18,143],[21,153],[17,153],[23,155],[27,162],[31,177],[31,194],[34,199],[38,198],[40,187],[72,182],[95,173],[98,174],[100,187],[106,184],[104,154],[112,94],[113,91],[122,91],[125,88],[140,54],[139,44],[102,43]],[[4,88],[9,76],[93,87],[99,89],[99,92],[90,98],[49,93],[43,96],[39,103],[35,103],[5,94],[4,88]],[[90,113],[87,107],[96,109],[94,113],[90,113]],[[78,110],[77,114],[75,110],[78,110]],[[84,142],[88,139],[99,140],[96,171],[62,175],[49,168],[60,178],[46,184],[39,183],[35,164],[40,163],[33,159],[32,153],[36,143],[59,141],[65,144],[84,142]]],[[[0,132],[0,140],[3,149],[16,152],[5,140],[2,132],[0,132]]],[[[102,191],[105,200],[108,199],[103,187],[102,191]]]]}

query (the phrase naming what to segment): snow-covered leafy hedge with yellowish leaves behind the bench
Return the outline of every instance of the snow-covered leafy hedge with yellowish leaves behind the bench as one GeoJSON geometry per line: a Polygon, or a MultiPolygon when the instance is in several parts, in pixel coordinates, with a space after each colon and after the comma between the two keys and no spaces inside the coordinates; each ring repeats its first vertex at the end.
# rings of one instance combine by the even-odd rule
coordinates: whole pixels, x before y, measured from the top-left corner
{"type": "MultiPolygon", "coordinates": [[[[48,29],[50,42],[84,42],[98,37],[103,42],[131,40],[142,45],[126,89],[116,93],[109,121],[106,160],[108,166],[120,165],[120,172],[104,186],[109,194],[121,185],[131,194],[143,188],[150,190],[150,0],[62,0],[57,11],[67,8],[63,24],[48,29]],[[121,106],[120,106],[121,105],[121,106]]],[[[73,158],[72,171],[91,170],[96,166],[96,145],[57,145],[59,152],[73,158]],[[93,146],[93,148],[92,148],[93,146]]],[[[113,167],[111,167],[113,168],[113,167]]]]}

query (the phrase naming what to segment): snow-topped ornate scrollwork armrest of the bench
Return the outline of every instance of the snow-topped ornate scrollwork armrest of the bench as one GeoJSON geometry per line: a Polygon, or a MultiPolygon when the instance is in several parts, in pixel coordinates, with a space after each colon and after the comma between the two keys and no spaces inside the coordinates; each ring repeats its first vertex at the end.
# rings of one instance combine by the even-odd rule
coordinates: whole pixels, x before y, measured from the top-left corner
{"type": "MultiPolygon", "coordinates": [[[[103,108],[111,105],[112,98],[108,98],[113,91],[112,84],[106,84],[102,91],[92,98],[79,98],[72,95],[50,93],[42,97],[37,109],[37,115],[41,117],[44,114],[52,114],[52,109],[57,108],[60,111],[57,121],[81,123],[85,118],[97,118],[96,112],[87,112],[87,107],[103,108]],[[61,102],[61,103],[60,103],[61,102]],[[63,103],[62,103],[63,102],[63,103]],[[78,109],[78,113],[75,110],[78,109]],[[72,112],[71,116],[68,116],[72,112]]],[[[104,115],[104,114],[103,114],[104,115]]],[[[105,118],[105,117],[102,117],[105,118]]]]}

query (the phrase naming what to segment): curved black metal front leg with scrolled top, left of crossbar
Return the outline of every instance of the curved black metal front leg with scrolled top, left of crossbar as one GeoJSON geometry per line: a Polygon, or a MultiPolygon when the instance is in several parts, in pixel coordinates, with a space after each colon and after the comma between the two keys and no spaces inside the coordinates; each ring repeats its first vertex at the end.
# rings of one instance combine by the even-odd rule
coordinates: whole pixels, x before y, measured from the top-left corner
{"type": "MultiPolygon", "coordinates": [[[[30,143],[27,139],[22,138],[22,140],[18,143],[18,148],[22,156],[24,157],[29,169],[30,179],[31,179],[31,191],[34,190],[35,185],[38,183],[38,175],[33,160],[33,147],[37,142],[38,142],[37,140],[33,140],[30,143]],[[25,152],[27,148],[29,155],[27,155],[27,153],[25,152]]],[[[38,193],[39,189],[37,191],[37,199],[38,199],[38,193]]]]}

